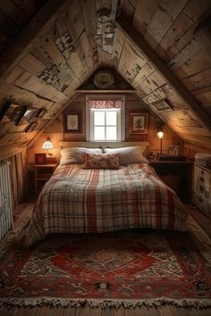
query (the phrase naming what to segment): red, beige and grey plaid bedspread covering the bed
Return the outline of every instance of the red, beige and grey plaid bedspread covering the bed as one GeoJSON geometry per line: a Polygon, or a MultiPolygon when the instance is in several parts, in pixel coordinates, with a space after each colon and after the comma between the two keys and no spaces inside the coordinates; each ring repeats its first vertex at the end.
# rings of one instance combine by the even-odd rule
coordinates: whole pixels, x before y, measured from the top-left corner
{"type": "Polygon", "coordinates": [[[59,166],[38,196],[21,240],[30,246],[47,234],[119,229],[186,229],[185,207],[148,163],[119,170],[59,166]]]}

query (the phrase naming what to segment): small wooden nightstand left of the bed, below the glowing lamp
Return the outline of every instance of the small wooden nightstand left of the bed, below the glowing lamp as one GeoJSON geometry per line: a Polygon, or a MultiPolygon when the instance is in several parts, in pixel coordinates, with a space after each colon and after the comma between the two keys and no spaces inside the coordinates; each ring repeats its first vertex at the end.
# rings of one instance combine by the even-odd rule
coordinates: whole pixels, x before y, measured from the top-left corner
{"type": "Polygon", "coordinates": [[[41,191],[46,181],[53,175],[57,163],[35,164],[35,192],[36,195],[41,191]]]}

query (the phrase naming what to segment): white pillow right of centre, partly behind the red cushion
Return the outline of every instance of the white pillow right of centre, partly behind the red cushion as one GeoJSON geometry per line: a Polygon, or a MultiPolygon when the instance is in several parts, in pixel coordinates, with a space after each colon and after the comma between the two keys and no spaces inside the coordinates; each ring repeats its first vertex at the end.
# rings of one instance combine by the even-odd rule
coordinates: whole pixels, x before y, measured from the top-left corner
{"type": "Polygon", "coordinates": [[[120,164],[141,163],[148,160],[143,156],[145,146],[128,146],[122,148],[104,148],[105,154],[120,154],[120,164]]]}

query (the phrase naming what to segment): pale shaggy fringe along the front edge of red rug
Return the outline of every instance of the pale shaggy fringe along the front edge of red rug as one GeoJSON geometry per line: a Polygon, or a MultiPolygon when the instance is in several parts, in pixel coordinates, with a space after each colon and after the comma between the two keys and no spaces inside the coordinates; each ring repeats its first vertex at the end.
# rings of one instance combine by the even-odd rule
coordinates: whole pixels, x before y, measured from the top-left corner
{"type": "Polygon", "coordinates": [[[136,307],[159,307],[162,305],[174,305],[177,307],[204,309],[211,307],[211,299],[172,299],[172,298],[156,298],[142,300],[99,300],[99,299],[63,299],[63,298],[0,298],[0,307],[41,307],[44,305],[56,307],[83,307],[88,305],[91,308],[101,307],[103,309],[110,307],[118,309],[121,306],[125,309],[134,309],[136,307]]]}

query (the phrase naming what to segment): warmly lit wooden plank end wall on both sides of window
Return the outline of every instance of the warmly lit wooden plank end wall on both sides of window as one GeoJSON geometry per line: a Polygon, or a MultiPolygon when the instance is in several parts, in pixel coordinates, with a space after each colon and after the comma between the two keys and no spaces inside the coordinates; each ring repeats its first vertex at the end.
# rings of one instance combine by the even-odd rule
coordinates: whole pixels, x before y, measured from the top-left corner
{"type": "MultiPolygon", "coordinates": [[[[126,94],[125,95],[125,127],[126,127],[126,141],[148,141],[150,147],[149,151],[157,154],[160,150],[160,142],[156,135],[157,127],[159,122],[156,121],[155,117],[148,113],[148,135],[130,135],[130,112],[146,112],[146,109],[143,105],[139,103],[139,98],[136,94],[126,94]]],[[[29,169],[33,170],[34,165],[34,154],[36,153],[45,153],[42,149],[42,144],[46,140],[46,137],[50,137],[52,143],[54,144],[54,149],[51,150],[51,153],[57,157],[57,160],[60,159],[60,148],[59,143],[64,140],[70,141],[84,141],[86,140],[86,96],[85,94],[80,94],[70,106],[65,110],[65,112],[80,112],[82,117],[82,129],[80,134],[75,133],[63,133],[63,113],[57,117],[57,119],[48,126],[47,129],[43,132],[37,141],[30,146],[28,150],[28,162],[29,169]]],[[[181,145],[180,139],[175,137],[168,129],[165,128],[165,137],[163,139],[163,148],[165,153],[167,153],[168,146],[170,145],[181,145]]]]}

